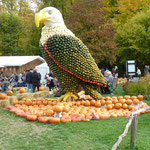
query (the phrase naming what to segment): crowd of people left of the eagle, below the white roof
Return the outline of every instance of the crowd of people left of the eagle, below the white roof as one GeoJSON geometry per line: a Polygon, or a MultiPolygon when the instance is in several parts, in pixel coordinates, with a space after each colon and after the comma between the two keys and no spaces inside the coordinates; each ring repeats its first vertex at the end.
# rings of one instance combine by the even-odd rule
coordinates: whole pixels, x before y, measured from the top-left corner
{"type": "Polygon", "coordinates": [[[49,90],[53,90],[54,87],[59,87],[57,78],[54,76],[53,72],[46,73],[45,78],[41,81],[41,74],[37,72],[36,69],[30,69],[24,73],[11,73],[11,75],[3,75],[0,73],[0,91],[3,93],[7,92],[8,87],[27,87],[26,92],[35,92],[35,89],[39,91],[39,87],[43,86],[49,87],[49,90]]]}

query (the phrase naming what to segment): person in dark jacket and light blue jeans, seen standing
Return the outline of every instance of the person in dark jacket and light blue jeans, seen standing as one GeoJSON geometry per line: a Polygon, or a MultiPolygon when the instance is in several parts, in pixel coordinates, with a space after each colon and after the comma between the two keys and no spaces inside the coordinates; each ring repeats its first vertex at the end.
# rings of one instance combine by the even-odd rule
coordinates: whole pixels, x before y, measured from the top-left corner
{"type": "Polygon", "coordinates": [[[33,79],[33,69],[30,69],[30,71],[26,75],[26,83],[27,83],[27,90],[26,93],[31,89],[31,93],[33,93],[33,85],[32,85],[32,79],[33,79]]]}

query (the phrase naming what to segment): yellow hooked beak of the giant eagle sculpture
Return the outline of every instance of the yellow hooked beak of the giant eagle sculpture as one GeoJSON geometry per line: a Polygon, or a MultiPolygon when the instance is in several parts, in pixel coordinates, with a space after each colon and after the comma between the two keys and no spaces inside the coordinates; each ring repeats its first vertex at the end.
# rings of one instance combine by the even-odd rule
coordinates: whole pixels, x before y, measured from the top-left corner
{"type": "Polygon", "coordinates": [[[50,16],[47,12],[39,12],[35,14],[35,24],[39,27],[40,23],[50,21],[50,16]]]}

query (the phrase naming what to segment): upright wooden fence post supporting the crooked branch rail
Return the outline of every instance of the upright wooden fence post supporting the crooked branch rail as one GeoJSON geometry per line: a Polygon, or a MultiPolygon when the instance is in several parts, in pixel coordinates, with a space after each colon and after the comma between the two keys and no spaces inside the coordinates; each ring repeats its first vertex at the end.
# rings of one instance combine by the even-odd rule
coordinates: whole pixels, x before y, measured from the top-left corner
{"type": "Polygon", "coordinates": [[[137,128],[137,122],[138,122],[138,117],[135,114],[134,118],[132,120],[132,125],[131,125],[131,141],[130,141],[130,147],[134,147],[136,144],[136,128],[137,128]]]}

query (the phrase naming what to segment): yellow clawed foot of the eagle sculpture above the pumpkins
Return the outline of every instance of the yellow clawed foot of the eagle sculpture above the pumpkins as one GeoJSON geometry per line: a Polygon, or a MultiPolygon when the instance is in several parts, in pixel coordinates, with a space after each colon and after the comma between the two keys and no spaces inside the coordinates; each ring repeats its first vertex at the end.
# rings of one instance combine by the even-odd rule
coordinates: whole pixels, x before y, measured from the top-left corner
{"type": "Polygon", "coordinates": [[[79,96],[75,92],[66,92],[65,95],[59,97],[57,99],[58,102],[64,101],[66,102],[68,98],[72,97],[74,100],[77,100],[79,96]]]}

